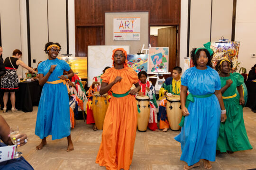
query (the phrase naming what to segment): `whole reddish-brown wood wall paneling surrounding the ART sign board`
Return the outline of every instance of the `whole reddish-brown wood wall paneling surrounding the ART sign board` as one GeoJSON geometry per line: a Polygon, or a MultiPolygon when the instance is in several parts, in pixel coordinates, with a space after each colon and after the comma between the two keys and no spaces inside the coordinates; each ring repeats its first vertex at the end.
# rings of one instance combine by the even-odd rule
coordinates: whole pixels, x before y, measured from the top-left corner
{"type": "Polygon", "coordinates": [[[88,45],[105,45],[106,11],[149,11],[149,26],[180,26],[181,0],[75,0],[76,56],[87,56],[88,45]]]}

